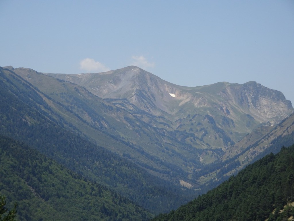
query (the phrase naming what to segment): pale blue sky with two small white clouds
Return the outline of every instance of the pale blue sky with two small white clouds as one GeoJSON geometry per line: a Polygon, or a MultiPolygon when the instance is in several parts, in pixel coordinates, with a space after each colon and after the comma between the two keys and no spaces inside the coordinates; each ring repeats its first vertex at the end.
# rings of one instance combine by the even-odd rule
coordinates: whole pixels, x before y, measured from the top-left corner
{"type": "Polygon", "coordinates": [[[294,105],[294,1],[0,0],[0,66],[141,67],[168,82],[256,81],[294,105]]]}

